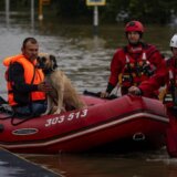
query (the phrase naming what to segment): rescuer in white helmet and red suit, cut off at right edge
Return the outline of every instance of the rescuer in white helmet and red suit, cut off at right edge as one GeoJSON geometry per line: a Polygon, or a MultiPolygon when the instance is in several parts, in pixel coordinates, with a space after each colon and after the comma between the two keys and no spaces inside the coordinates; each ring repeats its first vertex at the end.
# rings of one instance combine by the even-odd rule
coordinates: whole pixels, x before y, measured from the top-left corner
{"type": "Polygon", "coordinates": [[[169,43],[173,56],[167,60],[168,74],[166,79],[166,105],[169,127],[167,129],[167,150],[171,157],[177,157],[177,34],[169,43]]]}

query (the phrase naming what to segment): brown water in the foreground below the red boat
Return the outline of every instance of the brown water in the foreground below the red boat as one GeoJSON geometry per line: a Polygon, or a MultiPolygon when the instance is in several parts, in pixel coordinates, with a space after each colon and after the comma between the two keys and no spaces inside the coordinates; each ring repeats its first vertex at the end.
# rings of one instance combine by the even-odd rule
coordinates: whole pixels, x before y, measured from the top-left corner
{"type": "Polygon", "coordinates": [[[166,152],[28,156],[66,177],[175,177],[177,160],[166,152]],[[50,162],[50,163],[49,163],[50,162]]]}

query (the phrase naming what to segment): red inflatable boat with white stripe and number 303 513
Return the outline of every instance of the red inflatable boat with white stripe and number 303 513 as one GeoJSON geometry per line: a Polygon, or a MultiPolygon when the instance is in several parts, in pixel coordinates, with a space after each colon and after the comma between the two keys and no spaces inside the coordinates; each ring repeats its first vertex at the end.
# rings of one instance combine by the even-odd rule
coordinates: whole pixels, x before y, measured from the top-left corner
{"type": "Polygon", "coordinates": [[[152,147],[164,145],[168,118],[159,101],[128,95],[82,98],[87,104],[84,110],[25,119],[1,107],[0,147],[14,153],[55,154],[84,152],[127,138],[146,140],[152,147]]]}

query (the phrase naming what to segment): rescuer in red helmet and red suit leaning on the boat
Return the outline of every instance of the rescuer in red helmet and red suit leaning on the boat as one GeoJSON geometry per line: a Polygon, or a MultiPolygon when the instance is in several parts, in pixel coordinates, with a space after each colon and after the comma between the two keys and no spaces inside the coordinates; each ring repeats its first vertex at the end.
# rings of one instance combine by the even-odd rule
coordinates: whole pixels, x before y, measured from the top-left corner
{"type": "Polygon", "coordinates": [[[128,44],[115,52],[111,62],[108,84],[106,91],[101,92],[101,97],[108,97],[117,83],[122,95],[127,94],[129,87],[138,86],[136,90],[133,87],[133,92],[157,97],[158,90],[155,88],[166,74],[166,64],[155,45],[143,42],[143,34],[144,25],[139,21],[131,21],[125,25],[128,44]],[[142,83],[146,84],[142,86],[142,83]]]}

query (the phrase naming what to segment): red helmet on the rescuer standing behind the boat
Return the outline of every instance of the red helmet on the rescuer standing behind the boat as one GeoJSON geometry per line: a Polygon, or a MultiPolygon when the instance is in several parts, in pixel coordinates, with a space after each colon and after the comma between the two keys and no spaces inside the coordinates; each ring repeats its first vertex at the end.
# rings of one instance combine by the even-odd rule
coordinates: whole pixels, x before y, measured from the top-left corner
{"type": "Polygon", "coordinates": [[[137,32],[144,32],[144,27],[139,21],[129,21],[125,25],[125,32],[132,32],[132,31],[137,31],[137,32]]]}

